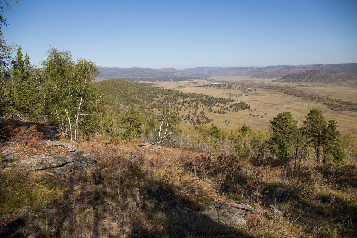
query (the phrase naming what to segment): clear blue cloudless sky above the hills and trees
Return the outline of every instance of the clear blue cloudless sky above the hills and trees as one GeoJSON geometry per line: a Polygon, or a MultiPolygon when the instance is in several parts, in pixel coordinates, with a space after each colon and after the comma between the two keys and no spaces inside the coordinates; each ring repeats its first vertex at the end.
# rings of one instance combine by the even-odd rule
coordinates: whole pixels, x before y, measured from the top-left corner
{"type": "Polygon", "coordinates": [[[357,62],[357,0],[7,0],[4,37],[31,63],[50,45],[106,67],[357,62]]]}

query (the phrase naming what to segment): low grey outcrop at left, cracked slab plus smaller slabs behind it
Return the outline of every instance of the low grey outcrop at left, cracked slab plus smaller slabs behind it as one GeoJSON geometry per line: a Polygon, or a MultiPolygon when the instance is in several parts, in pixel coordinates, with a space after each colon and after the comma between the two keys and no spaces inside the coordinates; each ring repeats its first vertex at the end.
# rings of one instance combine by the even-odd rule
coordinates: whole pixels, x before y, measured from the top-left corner
{"type": "Polygon", "coordinates": [[[12,153],[16,150],[14,145],[4,148],[1,152],[1,167],[7,168],[11,164],[16,164],[25,171],[38,171],[44,173],[68,174],[72,171],[81,172],[96,166],[97,160],[87,153],[77,152],[76,147],[70,143],[62,141],[41,141],[51,146],[51,150],[66,150],[66,153],[55,155],[33,155],[22,159],[15,158],[12,153]],[[68,151],[68,152],[67,152],[68,151]]]}

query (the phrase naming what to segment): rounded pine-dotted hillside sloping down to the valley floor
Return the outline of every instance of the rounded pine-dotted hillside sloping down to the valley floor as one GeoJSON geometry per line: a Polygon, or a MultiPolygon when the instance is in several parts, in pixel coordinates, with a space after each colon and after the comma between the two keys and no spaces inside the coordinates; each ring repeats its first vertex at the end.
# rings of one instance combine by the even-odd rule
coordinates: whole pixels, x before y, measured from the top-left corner
{"type": "Polygon", "coordinates": [[[192,125],[210,123],[213,121],[210,113],[222,114],[250,109],[247,103],[237,103],[235,99],[167,90],[118,79],[97,82],[96,87],[106,95],[115,112],[128,111],[135,107],[142,115],[149,117],[156,116],[158,112],[167,108],[177,113],[178,121],[192,125]]]}

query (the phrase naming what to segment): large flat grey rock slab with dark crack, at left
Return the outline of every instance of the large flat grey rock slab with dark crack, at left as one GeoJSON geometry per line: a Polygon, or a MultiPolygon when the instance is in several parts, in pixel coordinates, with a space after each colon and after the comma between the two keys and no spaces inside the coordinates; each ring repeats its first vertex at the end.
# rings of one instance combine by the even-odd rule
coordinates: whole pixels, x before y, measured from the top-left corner
{"type": "Polygon", "coordinates": [[[44,171],[48,173],[84,171],[97,164],[94,156],[82,152],[72,152],[63,155],[35,155],[16,161],[17,166],[26,171],[44,171]]]}

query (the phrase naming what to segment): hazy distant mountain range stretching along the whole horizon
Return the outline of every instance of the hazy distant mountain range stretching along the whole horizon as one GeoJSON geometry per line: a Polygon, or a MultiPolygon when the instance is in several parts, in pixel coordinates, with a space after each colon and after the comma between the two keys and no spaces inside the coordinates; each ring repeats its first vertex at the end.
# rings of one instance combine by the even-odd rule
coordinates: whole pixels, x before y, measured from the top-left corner
{"type": "Polygon", "coordinates": [[[184,70],[171,68],[149,69],[132,67],[128,69],[117,67],[100,67],[98,79],[121,77],[207,77],[207,76],[246,76],[253,78],[275,79],[289,74],[298,74],[309,70],[321,70],[327,74],[357,73],[357,64],[328,65],[276,65],[267,67],[196,67],[184,70]]]}

